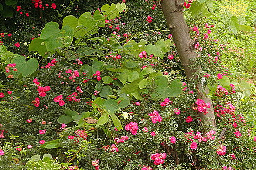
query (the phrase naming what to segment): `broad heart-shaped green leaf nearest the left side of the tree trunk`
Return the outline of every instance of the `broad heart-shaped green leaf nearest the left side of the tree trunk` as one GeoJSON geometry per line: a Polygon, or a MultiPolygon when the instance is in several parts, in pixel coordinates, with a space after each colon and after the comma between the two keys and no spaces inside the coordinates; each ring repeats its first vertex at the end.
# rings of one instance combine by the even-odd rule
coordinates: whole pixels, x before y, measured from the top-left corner
{"type": "Polygon", "coordinates": [[[177,96],[182,92],[183,86],[179,79],[175,79],[169,85],[168,79],[164,76],[156,77],[155,83],[157,85],[158,98],[168,98],[177,96]]]}

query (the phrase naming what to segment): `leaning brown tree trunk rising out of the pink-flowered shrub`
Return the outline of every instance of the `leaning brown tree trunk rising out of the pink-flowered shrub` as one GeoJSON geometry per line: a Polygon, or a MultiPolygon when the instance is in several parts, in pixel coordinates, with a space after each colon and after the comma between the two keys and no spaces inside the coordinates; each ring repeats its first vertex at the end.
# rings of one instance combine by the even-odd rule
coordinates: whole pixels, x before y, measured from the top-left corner
{"type": "MultiPolygon", "coordinates": [[[[173,36],[187,80],[190,82],[193,81],[193,79],[196,79],[194,76],[196,70],[202,70],[202,68],[201,66],[191,67],[191,59],[197,57],[195,52],[195,44],[197,41],[193,41],[190,37],[189,28],[183,15],[184,2],[185,0],[161,0],[161,8],[173,36]]],[[[199,113],[199,116],[202,121],[205,122],[203,123],[205,128],[210,126],[210,129],[216,129],[212,100],[205,96],[205,94],[209,93],[208,87],[204,87],[201,83],[197,84],[197,86],[199,90],[199,97],[203,99],[205,103],[209,102],[211,104],[211,108],[208,109],[208,113],[206,115],[199,113]]]]}

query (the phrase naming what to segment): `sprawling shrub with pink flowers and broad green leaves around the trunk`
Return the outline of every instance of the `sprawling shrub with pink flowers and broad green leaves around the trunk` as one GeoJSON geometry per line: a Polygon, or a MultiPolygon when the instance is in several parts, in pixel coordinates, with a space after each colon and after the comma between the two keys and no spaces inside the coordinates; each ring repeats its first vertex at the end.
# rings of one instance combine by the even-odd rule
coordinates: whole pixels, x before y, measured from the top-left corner
{"type": "MultiPolygon", "coordinates": [[[[34,7],[41,8],[42,3],[35,1],[34,7]]],[[[157,11],[156,4],[143,3],[157,11]]],[[[185,8],[190,4],[186,1],[185,8]]],[[[28,169],[53,170],[255,166],[256,136],[246,124],[248,106],[241,101],[250,94],[244,83],[230,82],[226,68],[220,66],[220,53],[205,45],[217,48],[217,41],[210,38],[213,26],[191,26],[198,39],[193,62],[202,65],[203,72],[182,85],[184,72],[178,71],[172,36],[159,31],[154,33],[157,41],[153,35],[138,41],[137,33],[123,33],[127,24],[119,17],[126,9],[119,3],[78,18],[67,16],[61,29],[57,22],[47,23],[29,46],[29,51],[42,54],[39,63],[8,52],[0,80],[0,113],[4,113],[0,166],[19,169],[26,164],[28,169]],[[212,105],[200,99],[198,82],[209,86],[212,105]],[[211,106],[216,129],[201,126],[204,120],[199,117],[211,106]]],[[[143,24],[154,27],[157,16],[150,15],[143,24]]],[[[0,47],[5,56],[5,46],[0,47]]]]}

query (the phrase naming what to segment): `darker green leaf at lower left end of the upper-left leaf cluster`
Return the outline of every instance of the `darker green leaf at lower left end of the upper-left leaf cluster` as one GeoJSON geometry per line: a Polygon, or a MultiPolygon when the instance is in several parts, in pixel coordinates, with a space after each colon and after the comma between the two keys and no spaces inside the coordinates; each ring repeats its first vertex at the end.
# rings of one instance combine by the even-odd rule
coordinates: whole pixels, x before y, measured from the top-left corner
{"type": "Polygon", "coordinates": [[[44,40],[40,39],[40,37],[33,39],[28,47],[28,51],[38,51],[41,56],[44,56],[48,51],[45,44],[42,45],[43,42],[44,40]]]}

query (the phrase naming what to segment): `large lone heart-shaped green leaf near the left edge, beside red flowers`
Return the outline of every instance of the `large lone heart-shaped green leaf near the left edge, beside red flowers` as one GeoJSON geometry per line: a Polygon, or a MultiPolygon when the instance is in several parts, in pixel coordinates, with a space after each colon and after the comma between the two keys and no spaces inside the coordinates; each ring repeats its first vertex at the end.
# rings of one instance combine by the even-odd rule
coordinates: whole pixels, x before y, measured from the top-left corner
{"type": "Polygon", "coordinates": [[[26,77],[38,69],[38,61],[34,58],[26,61],[24,56],[17,56],[13,59],[13,63],[16,63],[17,72],[15,76],[22,76],[26,77]]]}

